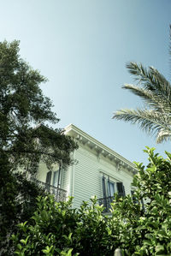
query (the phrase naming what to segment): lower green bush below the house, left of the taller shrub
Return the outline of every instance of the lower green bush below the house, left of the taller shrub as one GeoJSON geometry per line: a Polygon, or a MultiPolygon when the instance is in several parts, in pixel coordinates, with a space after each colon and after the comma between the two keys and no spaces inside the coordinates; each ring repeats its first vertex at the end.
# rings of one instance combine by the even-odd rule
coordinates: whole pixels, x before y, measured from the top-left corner
{"type": "Polygon", "coordinates": [[[38,209],[33,223],[19,224],[21,232],[13,235],[19,255],[104,255],[103,234],[108,232],[103,206],[84,202],[80,210],[72,209],[68,202],[55,202],[53,196],[38,197],[38,209]],[[93,254],[92,254],[93,253],[93,254]]]}

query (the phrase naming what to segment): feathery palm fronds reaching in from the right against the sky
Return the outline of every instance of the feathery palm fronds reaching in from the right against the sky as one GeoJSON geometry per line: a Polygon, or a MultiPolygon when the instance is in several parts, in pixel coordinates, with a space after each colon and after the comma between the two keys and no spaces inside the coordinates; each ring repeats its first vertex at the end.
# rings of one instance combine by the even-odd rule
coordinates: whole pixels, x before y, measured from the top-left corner
{"type": "Polygon", "coordinates": [[[171,140],[171,84],[156,68],[144,68],[138,63],[128,63],[127,68],[138,85],[123,88],[142,98],[144,108],[118,110],[113,118],[137,123],[146,133],[155,135],[156,143],[171,140]]]}

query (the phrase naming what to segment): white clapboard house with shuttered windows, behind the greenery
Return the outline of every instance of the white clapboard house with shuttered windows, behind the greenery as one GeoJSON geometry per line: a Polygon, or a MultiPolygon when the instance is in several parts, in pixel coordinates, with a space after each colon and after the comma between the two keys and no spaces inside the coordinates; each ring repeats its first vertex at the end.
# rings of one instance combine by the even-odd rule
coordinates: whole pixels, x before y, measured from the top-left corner
{"type": "Polygon", "coordinates": [[[83,200],[88,201],[96,195],[99,204],[109,211],[109,204],[115,192],[121,196],[131,194],[135,166],[126,158],[104,146],[102,143],[85,134],[73,124],[65,128],[65,134],[70,135],[79,144],[72,158],[75,164],[62,169],[62,165],[54,166],[49,171],[45,164],[39,165],[37,179],[40,184],[56,199],[74,197],[74,208],[80,206],[83,200]]]}

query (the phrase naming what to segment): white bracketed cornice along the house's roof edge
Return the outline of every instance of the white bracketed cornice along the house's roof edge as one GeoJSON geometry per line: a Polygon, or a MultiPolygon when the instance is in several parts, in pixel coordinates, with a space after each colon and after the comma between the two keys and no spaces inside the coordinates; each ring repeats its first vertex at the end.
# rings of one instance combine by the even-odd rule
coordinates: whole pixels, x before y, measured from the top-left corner
{"type": "Polygon", "coordinates": [[[111,161],[114,161],[118,168],[124,167],[127,170],[131,171],[133,174],[137,172],[136,167],[133,163],[128,161],[126,158],[123,158],[120,154],[116,153],[108,146],[103,145],[100,141],[94,139],[89,134],[83,132],[80,128],[74,126],[74,124],[69,124],[65,128],[65,134],[70,135],[74,139],[80,141],[83,145],[90,147],[95,150],[97,154],[103,155],[104,158],[109,158],[111,161]]]}

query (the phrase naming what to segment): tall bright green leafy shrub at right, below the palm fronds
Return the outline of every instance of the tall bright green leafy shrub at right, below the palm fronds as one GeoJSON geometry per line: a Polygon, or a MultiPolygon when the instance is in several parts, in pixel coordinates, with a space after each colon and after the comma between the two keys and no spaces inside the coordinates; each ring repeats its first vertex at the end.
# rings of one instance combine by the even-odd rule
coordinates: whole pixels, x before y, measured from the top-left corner
{"type": "Polygon", "coordinates": [[[128,195],[116,200],[111,219],[120,225],[119,246],[126,255],[170,255],[171,154],[166,152],[168,158],[164,159],[154,148],[144,152],[149,154],[149,164],[145,169],[135,163],[138,174],[133,178],[133,199],[128,195]]]}

